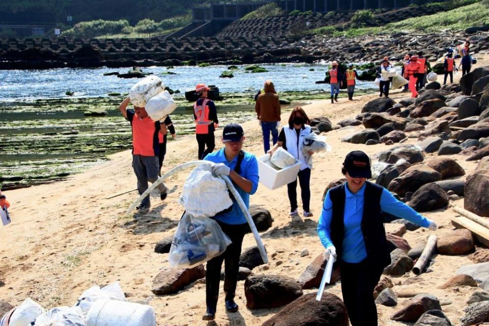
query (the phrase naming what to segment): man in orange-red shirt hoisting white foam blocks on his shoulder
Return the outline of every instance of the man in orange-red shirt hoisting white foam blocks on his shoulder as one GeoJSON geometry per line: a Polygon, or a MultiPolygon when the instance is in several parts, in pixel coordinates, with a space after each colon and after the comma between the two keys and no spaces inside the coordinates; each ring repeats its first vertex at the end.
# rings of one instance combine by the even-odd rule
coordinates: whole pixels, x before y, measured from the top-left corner
{"type": "MultiPolygon", "coordinates": [[[[139,194],[148,189],[148,181],[154,182],[158,179],[158,133],[159,121],[153,121],[148,116],[144,107],[134,105],[134,110],[127,110],[130,98],[127,97],[119,106],[124,118],[129,120],[132,128],[132,169],[138,179],[139,194]]],[[[164,183],[158,185],[161,200],[167,198],[167,187],[164,183]]],[[[150,208],[149,196],[145,197],[137,207],[140,211],[150,208]]]]}

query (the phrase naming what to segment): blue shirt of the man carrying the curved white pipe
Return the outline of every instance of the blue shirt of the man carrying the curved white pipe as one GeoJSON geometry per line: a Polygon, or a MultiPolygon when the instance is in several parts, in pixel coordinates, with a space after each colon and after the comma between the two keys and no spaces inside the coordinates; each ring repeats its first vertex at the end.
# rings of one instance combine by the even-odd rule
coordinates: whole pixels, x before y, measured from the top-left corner
{"type": "MultiPolygon", "coordinates": [[[[236,164],[238,163],[238,155],[236,155],[233,160],[228,162],[226,159],[226,155],[224,154],[224,147],[221,148],[217,152],[209,153],[205,156],[205,160],[214,162],[214,163],[224,163],[231,170],[234,170],[236,164]]],[[[244,201],[246,207],[250,207],[250,195],[256,193],[258,189],[258,161],[256,160],[256,156],[247,152],[244,152],[243,160],[241,161],[241,166],[239,169],[239,175],[245,179],[251,181],[252,188],[251,192],[247,193],[240,187],[236,186],[236,190],[244,201]]],[[[226,224],[244,224],[247,223],[246,218],[244,217],[241,208],[239,208],[238,203],[233,200],[233,206],[230,211],[222,212],[214,216],[214,219],[221,221],[226,224]]]]}

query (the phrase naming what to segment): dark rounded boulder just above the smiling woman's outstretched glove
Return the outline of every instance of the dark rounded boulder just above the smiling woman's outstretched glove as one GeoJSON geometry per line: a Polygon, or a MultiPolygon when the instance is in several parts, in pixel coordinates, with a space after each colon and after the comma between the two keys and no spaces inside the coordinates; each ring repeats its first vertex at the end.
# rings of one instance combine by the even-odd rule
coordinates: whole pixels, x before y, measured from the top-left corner
{"type": "Polygon", "coordinates": [[[413,194],[409,206],[418,212],[445,208],[448,206],[448,196],[438,184],[427,183],[413,194]]]}

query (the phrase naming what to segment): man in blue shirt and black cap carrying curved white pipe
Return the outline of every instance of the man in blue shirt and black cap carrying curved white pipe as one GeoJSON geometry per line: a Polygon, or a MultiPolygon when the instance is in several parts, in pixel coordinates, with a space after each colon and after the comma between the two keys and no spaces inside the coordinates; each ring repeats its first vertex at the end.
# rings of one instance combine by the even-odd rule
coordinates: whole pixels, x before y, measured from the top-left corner
{"type": "MultiPolygon", "coordinates": [[[[207,154],[204,159],[216,163],[212,168],[212,172],[229,176],[244,204],[249,207],[250,195],[256,193],[258,188],[258,162],[255,155],[241,150],[243,141],[243,128],[238,124],[228,124],[223,130],[222,142],[224,147],[217,152],[207,154]]],[[[238,310],[238,305],[234,302],[234,295],[238,280],[241,244],[247,229],[246,218],[234,198],[230,209],[215,215],[214,220],[219,223],[221,229],[231,239],[232,243],[222,255],[214,257],[207,262],[205,273],[207,310],[202,317],[204,320],[213,320],[215,317],[223,261],[226,310],[228,312],[236,312],[238,310]]]]}

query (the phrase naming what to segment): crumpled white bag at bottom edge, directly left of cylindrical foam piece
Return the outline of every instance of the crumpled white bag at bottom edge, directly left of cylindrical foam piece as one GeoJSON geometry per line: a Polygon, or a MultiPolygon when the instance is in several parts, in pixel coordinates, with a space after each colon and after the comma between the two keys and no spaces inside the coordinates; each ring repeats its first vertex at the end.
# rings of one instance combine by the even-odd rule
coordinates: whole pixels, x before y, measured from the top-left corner
{"type": "Polygon", "coordinates": [[[56,307],[39,315],[33,326],[87,326],[79,307],[56,307]]]}

